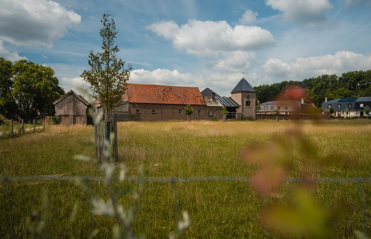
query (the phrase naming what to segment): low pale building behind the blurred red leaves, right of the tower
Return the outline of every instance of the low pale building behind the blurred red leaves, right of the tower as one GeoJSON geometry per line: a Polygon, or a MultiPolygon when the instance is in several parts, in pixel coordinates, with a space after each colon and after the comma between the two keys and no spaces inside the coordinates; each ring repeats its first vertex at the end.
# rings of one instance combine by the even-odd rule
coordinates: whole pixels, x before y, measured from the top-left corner
{"type": "Polygon", "coordinates": [[[259,114],[275,114],[278,110],[279,114],[293,114],[294,112],[305,113],[310,104],[304,103],[302,99],[300,101],[268,101],[259,104],[259,114]]]}

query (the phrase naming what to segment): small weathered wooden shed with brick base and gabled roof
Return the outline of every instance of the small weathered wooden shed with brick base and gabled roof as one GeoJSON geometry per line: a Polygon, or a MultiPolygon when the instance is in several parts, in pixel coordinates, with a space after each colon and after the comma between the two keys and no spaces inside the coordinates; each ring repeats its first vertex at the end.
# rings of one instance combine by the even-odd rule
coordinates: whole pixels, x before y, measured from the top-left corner
{"type": "Polygon", "coordinates": [[[53,104],[55,106],[55,117],[59,117],[61,124],[86,125],[88,123],[87,109],[90,104],[73,90],[68,91],[53,104]]]}

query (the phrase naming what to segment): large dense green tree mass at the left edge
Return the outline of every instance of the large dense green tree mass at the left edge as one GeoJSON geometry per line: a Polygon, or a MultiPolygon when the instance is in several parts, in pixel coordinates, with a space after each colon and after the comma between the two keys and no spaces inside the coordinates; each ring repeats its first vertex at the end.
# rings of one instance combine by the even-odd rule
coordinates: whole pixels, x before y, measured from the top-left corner
{"type": "Polygon", "coordinates": [[[0,57],[0,114],[30,120],[55,113],[53,101],[65,92],[50,67],[0,57]]]}

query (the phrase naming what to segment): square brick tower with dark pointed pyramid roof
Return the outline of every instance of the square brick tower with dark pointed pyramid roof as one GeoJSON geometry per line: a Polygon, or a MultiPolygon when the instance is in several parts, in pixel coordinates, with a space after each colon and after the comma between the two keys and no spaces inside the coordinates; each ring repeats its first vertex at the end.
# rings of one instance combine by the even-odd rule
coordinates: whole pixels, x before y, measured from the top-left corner
{"type": "Polygon", "coordinates": [[[255,119],[256,91],[245,78],[231,92],[232,98],[240,105],[237,109],[238,118],[251,117],[255,119]]]}

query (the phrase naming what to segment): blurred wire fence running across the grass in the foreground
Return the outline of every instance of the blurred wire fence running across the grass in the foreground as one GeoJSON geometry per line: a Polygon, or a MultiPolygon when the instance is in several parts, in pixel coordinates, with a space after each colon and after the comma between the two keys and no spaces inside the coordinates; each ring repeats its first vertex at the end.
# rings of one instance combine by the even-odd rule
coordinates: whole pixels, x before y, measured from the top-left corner
{"type": "MultiPolygon", "coordinates": [[[[7,195],[8,198],[3,198],[2,200],[8,200],[8,210],[10,215],[10,222],[14,226],[13,221],[13,210],[15,205],[13,205],[13,197],[15,193],[13,192],[14,187],[12,186],[13,183],[16,182],[50,182],[50,181],[67,181],[67,182],[74,182],[76,178],[79,180],[89,182],[102,182],[105,179],[103,177],[98,176],[65,176],[65,175],[37,175],[37,176],[23,176],[23,177],[15,177],[15,176],[0,176],[0,181],[4,182],[7,185],[7,195]]],[[[177,201],[178,197],[178,183],[192,183],[192,182],[244,182],[250,183],[251,179],[247,177],[239,177],[239,176],[195,176],[195,177],[134,177],[134,176],[126,176],[126,181],[131,182],[139,182],[139,181],[147,181],[147,182],[156,182],[156,183],[170,183],[172,184],[173,188],[173,197],[175,201],[177,201]]],[[[371,184],[371,177],[353,177],[353,178],[284,178],[281,180],[282,183],[325,183],[325,184],[356,184],[358,187],[358,197],[360,200],[360,207],[362,212],[361,214],[361,222],[362,225],[362,232],[366,235],[368,232],[369,221],[368,218],[368,209],[367,209],[367,200],[370,200],[370,195],[365,195],[364,184],[371,184]]],[[[264,197],[265,208],[268,207],[267,198],[264,197]]],[[[175,205],[176,211],[179,210],[179,205],[175,205]]],[[[10,238],[15,238],[14,234],[12,233],[10,238]]]]}

